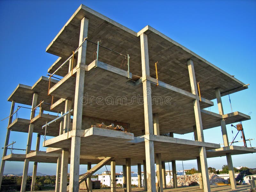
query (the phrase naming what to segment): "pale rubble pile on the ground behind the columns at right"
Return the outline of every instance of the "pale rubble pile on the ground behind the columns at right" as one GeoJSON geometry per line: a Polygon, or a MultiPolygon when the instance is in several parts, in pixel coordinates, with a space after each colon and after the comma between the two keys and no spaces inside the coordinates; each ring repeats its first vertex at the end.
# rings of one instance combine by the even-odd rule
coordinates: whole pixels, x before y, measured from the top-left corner
{"type": "MultiPolygon", "coordinates": [[[[198,173],[195,173],[193,175],[185,175],[185,181],[184,181],[184,176],[183,175],[177,175],[178,186],[185,185],[185,182],[186,182],[186,185],[188,185],[189,183],[192,183],[192,182],[197,182],[199,184],[198,180],[199,180],[198,173]]],[[[228,183],[227,180],[219,177],[215,173],[209,173],[209,180],[210,180],[210,185],[214,185],[215,182],[220,182],[220,181],[228,183]]],[[[171,185],[170,182],[167,185],[171,185]]],[[[173,186],[173,181],[172,181],[172,186],[173,186]]]]}

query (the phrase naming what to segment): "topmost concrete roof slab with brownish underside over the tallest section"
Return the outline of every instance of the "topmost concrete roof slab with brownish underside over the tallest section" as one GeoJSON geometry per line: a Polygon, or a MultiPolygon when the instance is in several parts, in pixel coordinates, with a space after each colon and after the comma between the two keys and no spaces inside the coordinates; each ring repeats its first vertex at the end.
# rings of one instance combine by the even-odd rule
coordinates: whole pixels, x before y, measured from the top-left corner
{"type": "MultiPolygon", "coordinates": [[[[191,88],[187,60],[192,59],[194,60],[196,80],[200,81],[203,98],[208,100],[216,98],[214,91],[216,87],[220,88],[222,96],[248,88],[241,81],[156,29],[146,26],[136,33],[84,5],[79,6],[46,48],[46,52],[61,57],[55,62],[55,65],[51,66],[48,72],[52,73],[54,69],[61,65],[61,61],[66,60],[72,54],[72,51],[75,51],[79,46],[80,21],[83,17],[89,19],[88,39],[93,42],[101,40],[101,44],[105,47],[122,54],[128,53],[131,57],[130,71],[136,76],[141,76],[139,35],[145,33],[148,35],[150,76],[156,76],[154,64],[158,61],[159,80],[189,92],[191,88]]],[[[95,50],[96,45],[87,42],[87,65],[92,62],[95,50]]],[[[104,63],[120,68],[123,59],[122,56],[116,53],[100,48],[99,60],[104,63]],[[105,57],[106,55],[108,57],[105,57]]],[[[60,75],[63,75],[63,73],[60,75]]]]}

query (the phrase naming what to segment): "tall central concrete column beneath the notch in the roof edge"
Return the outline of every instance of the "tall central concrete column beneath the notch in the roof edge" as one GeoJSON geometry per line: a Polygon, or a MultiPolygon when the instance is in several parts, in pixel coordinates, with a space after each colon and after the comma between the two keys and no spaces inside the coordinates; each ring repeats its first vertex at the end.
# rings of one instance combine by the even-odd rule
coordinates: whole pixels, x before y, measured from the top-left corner
{"type": "MultiPolygon", "coordinates": [[[[151,87],[147,78],[149,73],[149,59],[148,59],[148,37],[142,33],[140,35],[141,48],[141,64],[142,77],[146,78],[143,81],[143,99],[144,99],[144,121],[145,134],[154,135],[153,117],[152,117],[152,101],[151,101],[151,87]]],[[[148,192],[156,191],[156,174],[155,174],[155,156],[154,156],[154,141],[145,140],[145,153],[147,162],[147,190],[148,192]]],[[[145,178],[145,174],[144,174],[145,178]]]]}

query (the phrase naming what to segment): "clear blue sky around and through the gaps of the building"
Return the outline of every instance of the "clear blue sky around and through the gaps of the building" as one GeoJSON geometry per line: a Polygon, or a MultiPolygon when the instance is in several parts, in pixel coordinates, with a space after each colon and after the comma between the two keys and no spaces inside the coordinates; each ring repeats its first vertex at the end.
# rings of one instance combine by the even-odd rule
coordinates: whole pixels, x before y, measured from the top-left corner
{"type": "MultiPolygon", "coordinates": [[[[150,25],[245,84],[250,84],[249,89],[231,94],[230,99],[233,111],[252,112],[252,119],[243,122],[244,133],[246,139],[256,137],[256,1],[1,0],[0,119],[9,115],[11,103],[6,100],[19,83],[32,86],[40,76],[46,76],[47,69],[58,57],[46,53],[45,49],[81,3],[136,32],[150,25]]],[[[222,100],[224,113],[230,113],[228,96],[222,100]]],[[[216,105],[210,110],[218,113],[216,105]]],[[[19,117],[28,118],[28,111],[20,111],[19,117]]],[[[1,147],[4,146],[7,122],[0,121],[1,147]]],[[[232,134],[230,125],[227,125],[227,131],[231,141],[237,131],[233,129],[232,134]]],[[[190,140],[193,137],[192,133],[175,136],[190,140]]],[[[220,127],[205,130],[204,137],[207,142],[223,143],[220,127]]],[[[240,135],[237,140],[241,140],[240,135]]],[[[12,141],[16,141],[15,148],[25,149],[27,133],[11,132],[10,143],[12,141]]],[[[32,149],[35,149],[35,141],[36,134],[33,135],[32,149]]],[[[252,147],[256,146],[256,140],[251,143],[252,147]]],[[[45,148],[40,147],[40,150],[45,148]]],[[[0,152],[2,154],[3,149],[0,152]]],[[[256,154],[232,156],[232,159],[234,166],[256,168],[256,154]]],[[[225,157],[208,158],[207,162],[208,167],[216,169],[227,164],[225,157]]],[[[197,168],[196,161],[183,163],[185,169],[197,168]]],[[[23,164],[6,162],[4,173],[21,173],[23,164]]],[[[80,173],[85,172],[86,166],[80,167],[80,173]]],[[[33,163],[30,163],[29,172],[32,169],[33,163]]],[[[117,167],[116,171],[121,169],[117,167]]],[[[177,162],[177,170],[181,169],[181,162],[177,162]]],[[[132,167],[132,171],[136,171],[136,167],[132,167]]],[[[56,164],[40,163],[38,172],[55,174],[56,164]]]]}

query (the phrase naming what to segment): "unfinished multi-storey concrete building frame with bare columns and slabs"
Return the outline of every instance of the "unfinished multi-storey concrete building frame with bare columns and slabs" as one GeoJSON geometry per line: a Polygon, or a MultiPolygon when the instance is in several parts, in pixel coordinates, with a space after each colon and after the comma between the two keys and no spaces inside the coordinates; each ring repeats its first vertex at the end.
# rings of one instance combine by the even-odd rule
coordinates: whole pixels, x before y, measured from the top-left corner
{"type": "Polygon", "coordinates": [[[140,180],[143,164],[145,190],[162,192],[166,188],[164,162],[172,162],[173,187],[177,188],[175,161],[196,159],[200,188],[206,192],[210,191],[207,157],[226,156],[231,188],[236,188],[231,155],[256,149],[229,146],[226,124],[250,116],[225,114],[221,96],[248,85],[150,26],[137,33],[84,5],[46,52],[59,56],[48,69],[49,76],[42,76],[33,86],[19,84],[8,98],[12,106],[0,183],[5,161],[24,161],[24,192],[32,161],[32,191],[37,162],[46,162],[57,163],[56,191],[77,192],[85,180],[91,190],[90,176],[110,164],[111,191],[115,191],[115,166],[122,165],[124,187],[131,192],[131,165],[138,165],[140,180]],[[213,106],[213,99],[217,99],[218,114],[204,109],[213,106]],[[30,118],[14,119],[15,103],[30,105],[30,118]],[[218,126],[224,147],[204,141],[203,130],[218,126]],[[28,133],[26,154],[7,155],[10,131],[28,133]],[[38,137],[36,150],[31,151],[33,132],[38,137]],[[173,133],[189,132],[194,132],[195,140],[173,137],[173,133]],[[41,136],[44,152],[39,151],[41,136]],[[80,164],[87,164],[88,172],[79,176],[80,164]]]}

